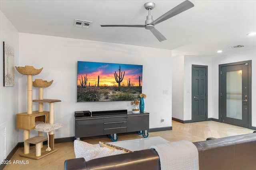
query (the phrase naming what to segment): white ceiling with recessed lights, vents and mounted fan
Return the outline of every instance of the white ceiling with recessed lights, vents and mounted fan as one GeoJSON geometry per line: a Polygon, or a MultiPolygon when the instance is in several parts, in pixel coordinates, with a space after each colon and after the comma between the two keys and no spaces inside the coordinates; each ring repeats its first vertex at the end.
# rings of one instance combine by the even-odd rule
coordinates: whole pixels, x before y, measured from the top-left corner
{"type": "Polygon", "coordinates": [[[194,7],[155,26],[159,42],[140,27],[100,24],[144,24],[146,2],[154,2],[153,19],[184,0],[0,0],[0,10],[21,33],[51,35],[171,49],[173,55],[226,55],[256,49],[256,0],[190,0],[194,7]],[[76,27],[74,19],[92,21],[76,27]],[[231,46],[244,45],[234,49],[231,46]],[[222,50],[222,54],[217,54],[222,50]]]}

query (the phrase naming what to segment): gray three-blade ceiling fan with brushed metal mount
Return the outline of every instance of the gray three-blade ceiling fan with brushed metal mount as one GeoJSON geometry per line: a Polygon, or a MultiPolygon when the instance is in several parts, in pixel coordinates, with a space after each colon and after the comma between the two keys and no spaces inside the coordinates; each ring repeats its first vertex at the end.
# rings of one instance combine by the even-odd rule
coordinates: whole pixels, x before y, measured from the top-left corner
{"type": "Polygon", "coordinates": [[[145,21],[145,25],[100,25],[102,27],[144,27],[146,29],[149,29],[154,36],[158,39],[158,41],[164,41],[166,40],[166,37],[162,35],[157,29],[154,28],[154,26],[158,23],[161,23],[162,21],[168,20],[169,18],[176,16],[177,14],[180,14],[190,8],[192,8],[194,4],[192,2],[186,0],[179,4],[178,6],[172,8],[170,11],[166,12],[156,20],[153,20],[153,16],[151,15],[150,11],[154,9],[155,3],[154,2],[147,2],[144,4],[144,7],[146,10],[148,10],[148,16],[145,21]]]}

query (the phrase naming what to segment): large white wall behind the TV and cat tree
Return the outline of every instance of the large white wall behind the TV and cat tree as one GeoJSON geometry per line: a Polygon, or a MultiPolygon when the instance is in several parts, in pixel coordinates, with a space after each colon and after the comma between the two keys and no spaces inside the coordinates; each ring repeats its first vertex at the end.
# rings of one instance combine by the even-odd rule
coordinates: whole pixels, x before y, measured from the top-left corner
{"type": "MultiPolygon", "coordinates": [[[[128,109],[130,102],[76,102],[77,61],[124,63],[143,65],[142,93],[147,95],[145,111],[150,112],[150,128],[172,126],[172,51],[63,37],[20,33],[19,66],[44,67],[35,79],[54,80],[44,89],[44,98],[59,99],[54,105],[55,122],[63,127],[55,138],[74,136],[74,111],[128,109]],[[163,94],[168,90],[168,94],[163,94]],[[160,122],[160,117],[165,119],[160,122]]],[[[20,80],[19,112],[26,112],[26,76],[20,80]]],[[[33,88],[33,99],[38,98],[38,89],[33,88]]],[[[44,104],[44,110],[49,110],[44,104]]],[[[38,104],[33,103],[33,110],[38,104]]],[[[30,134],[36,135],[36,132],[30,134]]],[[[19,142],[23,141],[19,131],[19,142]]]]}

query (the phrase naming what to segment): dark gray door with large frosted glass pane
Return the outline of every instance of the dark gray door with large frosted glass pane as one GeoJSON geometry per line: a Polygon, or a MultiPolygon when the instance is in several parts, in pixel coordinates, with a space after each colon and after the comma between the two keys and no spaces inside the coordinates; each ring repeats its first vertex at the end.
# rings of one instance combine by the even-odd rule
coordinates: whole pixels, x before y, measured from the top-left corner
{"type": "Polygon", "coordinates": [[[250,83],[248,81],[249,63],[222,65],[221,76],[221,121],[248,127],[250,83]]]}

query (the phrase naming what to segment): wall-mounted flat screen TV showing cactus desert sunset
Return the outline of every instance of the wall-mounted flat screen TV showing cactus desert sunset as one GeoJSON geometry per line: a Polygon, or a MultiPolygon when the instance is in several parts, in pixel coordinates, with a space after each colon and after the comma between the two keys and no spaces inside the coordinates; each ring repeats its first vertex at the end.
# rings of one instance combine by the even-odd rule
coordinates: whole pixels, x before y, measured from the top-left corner
{"type": "Polygon", "coordinates": [[[142,65],[77,62],[77,102],[132,101],[142,92],[142,65]]]}

